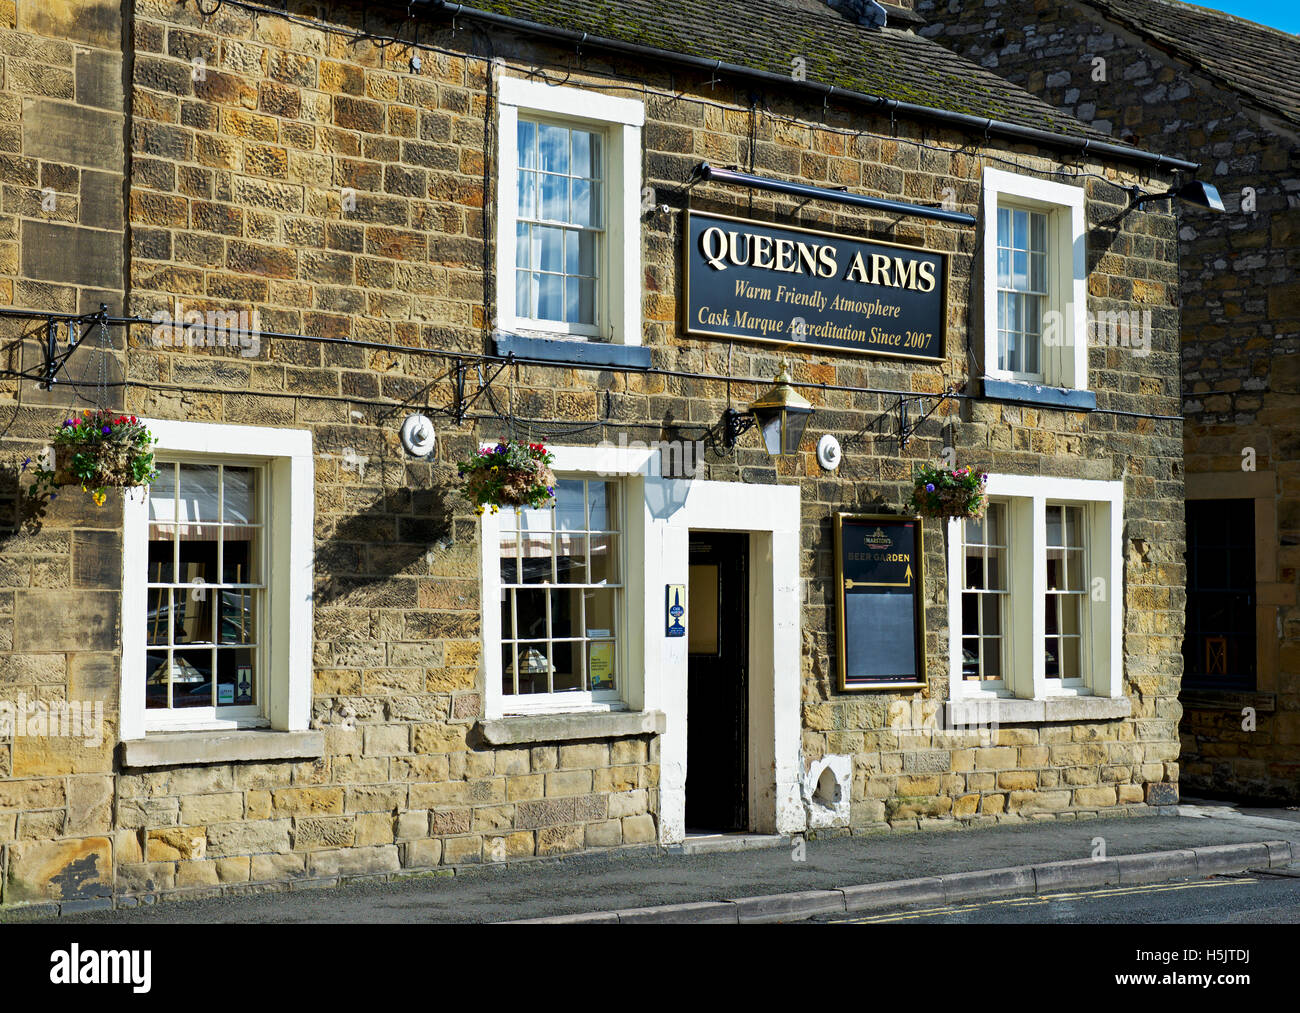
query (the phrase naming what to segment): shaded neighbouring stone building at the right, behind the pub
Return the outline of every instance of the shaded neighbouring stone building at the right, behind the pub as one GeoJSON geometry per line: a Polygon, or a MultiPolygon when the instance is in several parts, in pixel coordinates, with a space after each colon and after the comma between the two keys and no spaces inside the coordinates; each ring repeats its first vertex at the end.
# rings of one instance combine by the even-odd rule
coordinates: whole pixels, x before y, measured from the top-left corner
{"type": "Polygon", "coordinates": [[[1200,152],[1180,204],[1182,783],[1300,800],[1300,40],[1173,0],[922,0],[920,33],[1095,129],[1200,152]]]}

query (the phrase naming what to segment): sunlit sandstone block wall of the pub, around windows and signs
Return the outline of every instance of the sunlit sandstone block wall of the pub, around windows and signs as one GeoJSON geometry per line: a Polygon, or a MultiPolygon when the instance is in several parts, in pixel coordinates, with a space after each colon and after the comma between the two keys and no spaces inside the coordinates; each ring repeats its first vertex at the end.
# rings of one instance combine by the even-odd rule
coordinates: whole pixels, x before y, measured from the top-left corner
{"type": "MultiPolygon", "coordinates": [[[[361,25],[359,12],[342,5],[334,17],[334,27],[361,25]]],[[[61,31],[60,23],[51,22],[49,31],[61,31]]],[[[373,29],[374,18],[367,23],[373,29]]],[[[20,20],[0,42],[21,29],[20,20]]],[[[170,0],[136,0],[130,38],[122,221],[130,312],[148,316],[177,300],[200,309],[255,307],[268,330],[484,350],[495,298],[484,276],[484,264],[494,263],[485,235],[495,228],[486,60],[430,51],[412,73],[408,55],[395,47],[234,8],[204,18],[194,4],[170,0]],[[348,195],[355,203],[344,203],[348,195]]],[[[429,38],[447,48],[467,44],[465,34],[429,38]]],[[[503,73],[541,66],[559,79],[566,72],[556,68],[572,65],[568,53],[517,38],[497,39],[495,53],[503,73]]],[[[645,185],[675,209],[647,215],[642,231],[644,339],[655,365],[670,369],[767,377],[781,358],[770,346],[732,347],[680,333],[676,209],[686,204],[689,172],[699,160],[919,203],[939,203],[953,187],[967,211],[978,205],[985,155],[1026,169],[1061,169],[1054,157],[1028,150],[957,152],[972,139],[933,130],[923,137],[904,122],[892,137],[888,121],[833,105],[826,122],[820,105],[779,95],[751,108],[748,90],[664,68],[593,56],[569,78],[615,95],[627,95],[629,82],[645,88],[645,185]]],[[[1114,166],[1080,168],[1121,185],[1135,179],[1114,166]]],[[[1092,304],[1149,308],[1156,321],[1149,356],[1092,350],[1098,406],[1176,415],[1173,218],[1143,213],[1106,229],[1121,191],[1096,178],[1086,186],[1098,226],[1089,248],[1092,304]]],[[[720,187],[696,187],[689,200],[699,209],[750,212],[746,195],[720,187]]],[[[758,196],[753,212],[953,254],[942,363],[794,351],[796,378],[914,393],[967,381],[966,347],[979,326],[970,309],[972,230],[823,204],[796,209],[793,202],[758,196]]],[[[16,303],[47,307],[36,291],[16,303]]],[[[411,462],[393,417],[406,399],[450,402],[446,360],[278,338],[266,338],[255,356],[157,347],[144,328],[109,358],[125,363],[127,385],[114,390],[139,415],[312,430],[313,718],[325,732],[325,754],[315,762],[122,770],[113,714],[103,749],[90,756],[51,752],[23,766],[25,746],[0,744],[5,902],[255,888],[656,840],[654,736],[493,748],[478,732],[480,546],[473,514],[455,493],[455,462],[480,440],[502,436],[504,424],[441,425],[436,459],[411,462]]],[[[719,380],[566,365],[511,373],[514,412],[549,420],[532,423],[529,434],[552,442],[597,442],[620,430],[632,438],[697,438],[728,397],[719,380]],[[566,434],[556,419],[610,424],[566,434]]],[[[22,397],[31,388],[25,382],[22,397]]],[[[17,397],[16,385],[5,390],[17,397]]],[[[736,399],[754,393],[744,385],[733,390],[736,399]]],[[[734,454],[710,451],[698,477],[801,488],[803,756],[806,762],[853,756],[852,826],[1076,818],[1176,797],[1180,425],[962,402],[945,404],[900,451],[892,428],[878,432],[894,398],[805,393],[818,414],[798,459],[774,464],[749,440],[734,454]],[[837,434],[846,451],[833,475],[820,471],[812,454],[814,433],[823,432],[837,434]],[[833,514],[900,510],[913,468],[946,445],[962,462],[989,471],[1126,482],[1126,545],[1149,544],[1147,553],[1126,549],[1124,688],[1132,718],[1004,728],[996,743],[982,745],[933,731],[933,709],[948,691],[944,537],[936,521],[926,529],[928,691],[833,689],[833,514]],[[919,709],[919,719],[902,720],[900,705],[919,709]]],[[[21,407],[3,437],[9,458],[21,463],[39,450],[64,411],[21,407]]],[[[0,606],[12,599],[14,614],[27,616],[64,607],[79,612],[66,625],[14,622],[14,646],[0,658],[4,693],[16,685],[49,697],[95,692],[116,707],[120,564],[113,560],[121,515],[112,499],[103,510],[87,503],[60,497],[38,534],[16,529],[0,545],[0,606]],[[88,558],[99,563],[78,562],[88,558]],[[44,588],[52,573],[66,579],[66,589],[44,588]],[[94,607],[91,596],[99,596],[94,607]],[[87,612],[100,619],[88,624],[87,612]]]]}

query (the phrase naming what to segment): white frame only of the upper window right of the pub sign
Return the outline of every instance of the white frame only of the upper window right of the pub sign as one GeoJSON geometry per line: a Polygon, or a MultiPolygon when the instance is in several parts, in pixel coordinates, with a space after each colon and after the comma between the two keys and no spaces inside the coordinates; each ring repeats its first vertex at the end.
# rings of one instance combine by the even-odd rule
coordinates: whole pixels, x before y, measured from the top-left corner
{"type": "Polygon", "coordinates": [[[1088,231],[1084,191],[1004,169],[984,169],[984,376],[1067,390],[1088,389],[1088,231]],[[997,209],[1048,216],[1048,291],[1039,365],[1043,378],[998,368],[997,209]],[[1057,325],[1053,329],[1053,325],[1057,325]]]}

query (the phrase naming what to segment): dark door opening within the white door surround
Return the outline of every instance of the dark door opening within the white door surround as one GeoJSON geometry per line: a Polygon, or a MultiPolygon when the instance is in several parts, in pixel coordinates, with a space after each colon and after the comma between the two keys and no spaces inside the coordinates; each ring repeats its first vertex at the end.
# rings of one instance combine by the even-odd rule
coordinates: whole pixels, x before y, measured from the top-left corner
{"type": "Polygon", "coordinates": [[[749,800],[749,536],[692,532],[686,828],[737,831],[749,800]]]}

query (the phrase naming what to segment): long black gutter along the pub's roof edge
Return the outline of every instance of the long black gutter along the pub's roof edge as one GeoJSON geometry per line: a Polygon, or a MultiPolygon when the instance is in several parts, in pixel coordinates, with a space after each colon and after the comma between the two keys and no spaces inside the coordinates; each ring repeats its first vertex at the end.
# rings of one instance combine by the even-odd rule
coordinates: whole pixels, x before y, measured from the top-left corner
{"type": "Polygon", "coordinates": [[[1156,172],[1196,173],[1201,168],[1200,163],[1173,159],[1167,155],[1157,155],[1150,151],[1141,151],[1140,148],[1132,148],[1124,144],[1113,144],[1108,140],[1075,138],[1066,134],[1054,134],[1050,130],[1040,130],[1032,126],[1009,124],[1004,120],[971,116],[970,113],[957,113],[950,109],[936,109],[931,105],[918,105],[910,101],[898,101],[897,99],[883,99],[879,95],[868,95],[862,91],[837,88],[835,85],[823,85],[816,81],[792,81],[784,74],[776,74],[770,70],[757,70],[750,66],[741,66],[740,64],[728,64],[724,60],[708,60],[702,56],[690,56],[688,53],[679,53],[671,49],[659,49],[650,46],[641,46],[640,43],[623,42],[621,39],[589,35],[585,31],[575,31],[573,29],[541,25],[536,21],[525,21],[523,18],[511,17],[510,14],[498,14],[493,10],[482,10],[465,4],[448,3],[448,0],[411,0],[411,10],[415,10],[416,8],[433,8],[441,13],[450,14],[452,18],[472,18],[474,21],[512,29],[529,35],[540,35],[546,39],[554,39],[555,42],[563,42],[576,47],[606,49],[608,52],[651,57],[655,60],[668,60],[682,66],[706,70],[708,73],[725,73],[734,77],[748,78],[750,81],[763,82],[766,85],[779,85],[785,90],[789,90],[790,87],[802,88],[803,91],[809,91],[823,98],[823,100],[829,100],[833,96],[838,101],[866,105],[872,112],[888,114],[890,117],[901,116],[919,122],[935,124],[937,126],[961,130],[963,133],[984,134],[985,137],[997,137],[1004,140],[1037,144],[1044,148],[1069,152],[1072,155],[1105,156],[1114,161],[1141,165],[1156,172]]]}

